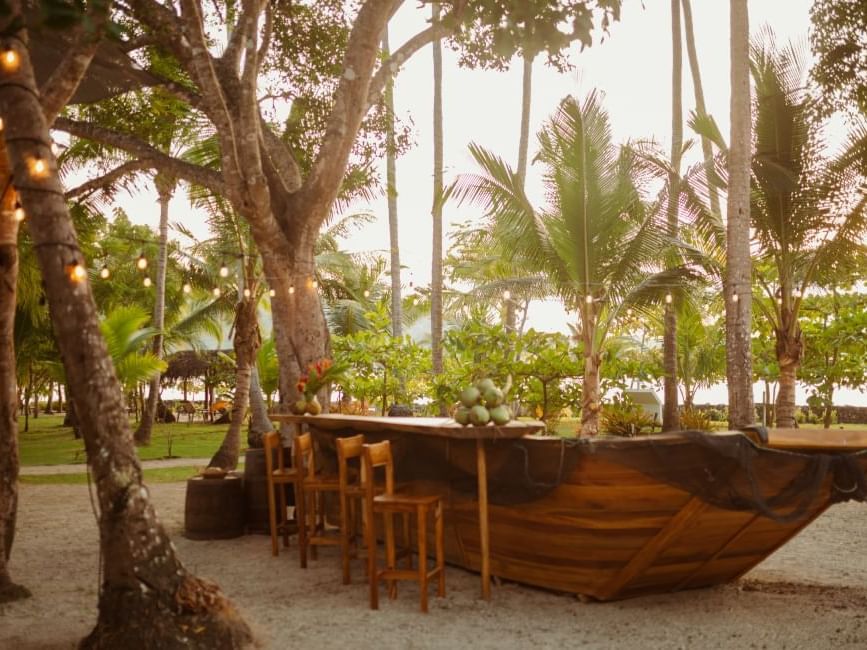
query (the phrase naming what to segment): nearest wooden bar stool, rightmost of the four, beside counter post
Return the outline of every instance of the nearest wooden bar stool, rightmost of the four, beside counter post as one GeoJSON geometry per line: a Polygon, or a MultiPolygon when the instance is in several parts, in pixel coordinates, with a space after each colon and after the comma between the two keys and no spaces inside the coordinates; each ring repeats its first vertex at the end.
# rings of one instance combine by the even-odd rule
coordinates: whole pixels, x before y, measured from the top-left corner
{"type": "Polygon", "coordinates": [[[365,522],[364,532],[367,543],[368,575],[370,579],[370,608],[379,608],[379,582],[389,583],[389,598],[397,597],[395,580],[416,580],[421,594],[421,611],[427,612],[428,582],[437,577],[437,596],[446,594],[445,551],[443,541],[443,505],[439,495],[395,494],[394,492],[394,461],[391,455],[391,443],[386,440],[371,445],[364,445],[362,464],[362,485],[364,486],[365,522]],[[385,468],[385,491],[375,493],[375,475],[377,467],[385,468]],[[385,526],[386,567],[376,566],[376,530],[374,515],[381,513],[385,526]],[[394,545],[395,513],[414,514],[416,516],[416,537],[418,552],[418,569],[398,569],[394,545]],[[427,562],[427,520],[428,515],[434,516],[434,539],[436,549],[436,564],[428,570],[427,562]]]}

